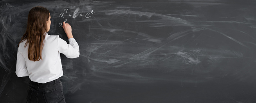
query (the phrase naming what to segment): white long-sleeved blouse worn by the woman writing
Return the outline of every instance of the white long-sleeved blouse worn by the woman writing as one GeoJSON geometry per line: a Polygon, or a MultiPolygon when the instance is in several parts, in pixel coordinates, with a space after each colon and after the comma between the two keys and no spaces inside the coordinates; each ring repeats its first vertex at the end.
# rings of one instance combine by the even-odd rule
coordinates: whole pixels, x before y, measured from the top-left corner
{"type": "MultiPolygon", "coordinates": [[[[47,34],[47,33],[46,33],[47,34]]],[[[41,57],[43,60],[31,61],[28,59],[28,47],[20,43],[17,53],[16,75],[18,77],[29,76],[31,81],[46,83],[58,79],[63,75],[60,53],[68,58],[79,56],[79,46],[74,38],[69,39],[69,44],[59,36],[46,35],[41,57]]]]}

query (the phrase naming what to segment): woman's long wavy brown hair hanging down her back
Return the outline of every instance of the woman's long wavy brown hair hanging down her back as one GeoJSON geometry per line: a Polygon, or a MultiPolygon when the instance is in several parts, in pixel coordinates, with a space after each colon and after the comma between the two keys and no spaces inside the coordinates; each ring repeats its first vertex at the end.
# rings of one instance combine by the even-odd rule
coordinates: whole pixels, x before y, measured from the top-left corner
{"type": "MultiPolygon", "coordinates": [[[[45,7],[33,7],[29,11],[27,29],[22,36],[20,43],[27,40],[25,47],[29,44],[27,57],[32,61],[42,59],[43,41],[47,32],[47,23],[50,16],[49,10],[45,7]]],[[[19,44],[20,44],[19,43],[19,44]]]]}

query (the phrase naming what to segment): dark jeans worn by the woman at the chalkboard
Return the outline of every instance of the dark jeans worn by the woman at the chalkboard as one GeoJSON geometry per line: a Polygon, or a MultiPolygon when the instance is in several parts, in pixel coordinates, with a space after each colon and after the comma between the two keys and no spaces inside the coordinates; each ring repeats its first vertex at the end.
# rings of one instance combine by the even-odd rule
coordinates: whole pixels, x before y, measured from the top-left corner
{"type": "Polygon", "coordinates": [[[59,79],[47,83],[29,82],[27,103],[66,103],[62,82],[59,79]]]}

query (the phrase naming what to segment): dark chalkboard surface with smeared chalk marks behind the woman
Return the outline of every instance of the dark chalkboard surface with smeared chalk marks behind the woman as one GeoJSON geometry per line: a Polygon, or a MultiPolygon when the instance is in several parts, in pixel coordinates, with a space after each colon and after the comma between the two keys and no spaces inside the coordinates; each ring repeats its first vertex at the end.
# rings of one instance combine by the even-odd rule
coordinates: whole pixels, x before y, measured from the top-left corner
{"type": "Polygon", "coordinates": [[[0,1],[0,102],[24,103],[16,53],[34,6],[49,9],[67,103],[256,103],[255,0],[0,1]]]}

